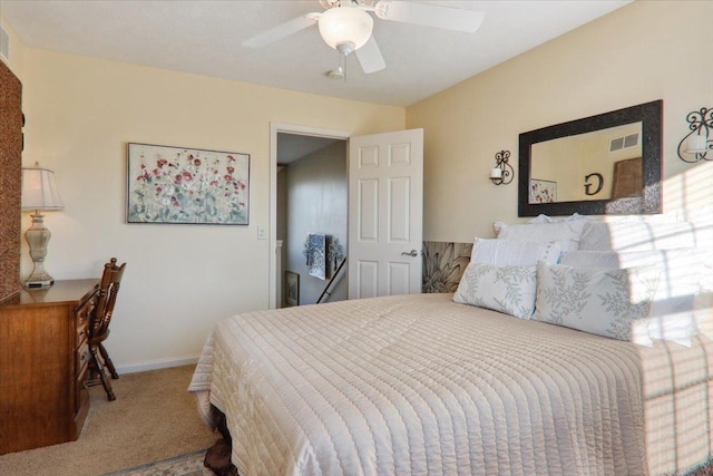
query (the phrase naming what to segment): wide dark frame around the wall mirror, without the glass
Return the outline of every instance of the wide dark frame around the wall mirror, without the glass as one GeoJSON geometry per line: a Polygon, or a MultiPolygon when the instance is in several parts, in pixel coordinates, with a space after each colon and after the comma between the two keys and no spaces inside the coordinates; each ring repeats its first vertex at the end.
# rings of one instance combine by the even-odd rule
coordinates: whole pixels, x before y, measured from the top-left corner
{"type": "Polygon", "coordinates": [[[520,134],[518,171],[518,216],[606,215],[661,213],[663,100],[641,104],[569,123],[520,134]],[[616,200],[529,203],[530,153],[533,144],[593,130],[642,123],[642,195],[616,200]]]}

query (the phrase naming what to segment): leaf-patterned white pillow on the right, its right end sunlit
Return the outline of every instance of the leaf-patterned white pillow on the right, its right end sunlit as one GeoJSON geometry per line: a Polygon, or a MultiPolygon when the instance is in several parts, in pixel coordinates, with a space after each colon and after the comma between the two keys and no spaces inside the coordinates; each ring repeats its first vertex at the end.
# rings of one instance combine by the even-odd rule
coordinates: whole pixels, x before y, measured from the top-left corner
{"type": "Polygon", "coordinates": [[[655,266],[599,270],[537,263],[533,320],[618,340],[646,318],[658,284],[655,266]]]}

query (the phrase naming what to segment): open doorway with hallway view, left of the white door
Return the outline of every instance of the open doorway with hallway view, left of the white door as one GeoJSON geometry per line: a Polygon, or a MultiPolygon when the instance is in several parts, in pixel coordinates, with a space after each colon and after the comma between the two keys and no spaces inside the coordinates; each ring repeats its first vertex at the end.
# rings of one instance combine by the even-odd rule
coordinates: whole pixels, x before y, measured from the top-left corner
{"type": "MultiPolygon", "coordinates": [[[[309,235],[325,235],[342,246],[348,239],[346,139],[350,133],[303,126],[271,124],[271,250],[270,307],[286,304],[285,278],[290,272],[291,305],[295,304],[294,283],[299,283],[299,304],[316,302],[328,285],[334,262],[325,265],[324,276],[310,274],[303,254],[309,235]]],[[[326,258],[326,255],[325,255],[326,258]]],[[[322,302],[346,299],[346,270],[343,269],[322,302]],[[341,291],[342,290],[342,291],[341,291]],[[340,298],[342,293],[343,297],[340,298]]]]}

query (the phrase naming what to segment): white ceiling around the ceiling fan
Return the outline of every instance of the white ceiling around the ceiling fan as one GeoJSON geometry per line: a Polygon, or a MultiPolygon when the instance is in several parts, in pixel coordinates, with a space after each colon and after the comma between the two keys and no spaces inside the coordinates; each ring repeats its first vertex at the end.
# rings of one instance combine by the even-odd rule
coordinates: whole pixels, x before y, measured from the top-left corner
{"type": "MultiPolygon", "coordinates": [[[[475,33],[374,19],[387,68],[346,81],[325,72],[338,54],[310,27],[261,49],[241,42],[311,11],[318,0],[0,0],[28,46],[369,103],[408,106],[631,0],[428,1],[482,10],[475,33]]],[[[10,55],[12,46],[10,45],[10,55]]]]}

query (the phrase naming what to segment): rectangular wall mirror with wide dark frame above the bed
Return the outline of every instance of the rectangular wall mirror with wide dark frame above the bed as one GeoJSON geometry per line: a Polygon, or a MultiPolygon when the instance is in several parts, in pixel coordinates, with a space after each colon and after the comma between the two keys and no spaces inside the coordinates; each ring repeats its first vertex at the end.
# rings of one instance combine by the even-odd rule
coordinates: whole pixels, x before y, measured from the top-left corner
{"type": "Polygon", "coordinates": [[[661,212],[663,101],[520,134],[518,216],[661,212]]]}

